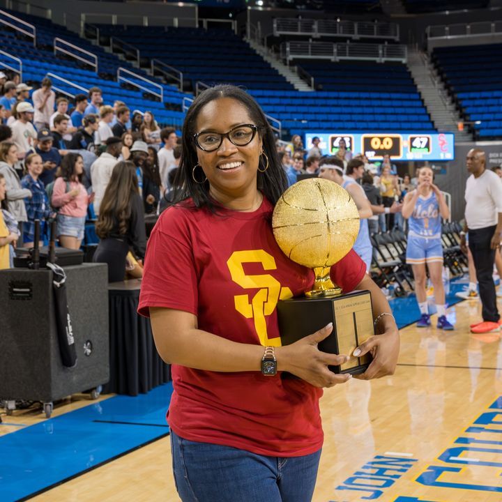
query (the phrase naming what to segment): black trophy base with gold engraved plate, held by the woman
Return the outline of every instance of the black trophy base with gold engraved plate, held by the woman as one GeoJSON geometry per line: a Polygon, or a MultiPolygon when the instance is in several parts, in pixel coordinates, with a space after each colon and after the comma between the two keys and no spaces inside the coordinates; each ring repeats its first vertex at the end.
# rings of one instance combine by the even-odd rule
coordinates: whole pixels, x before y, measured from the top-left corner
{"type": "Polygon", "coordinates": [[[282,345],[289,345],[312,335],[333,323],[333,331],[322,342],[319,350],[345,354],[349,361],[329,366],[334,373],[364,373],[372,361],[371,354],[353,357],[356,347],[374,335],[370,291],[352,291],[330,298],[291,298],[277,303],[277,315],[282,345]]]}

